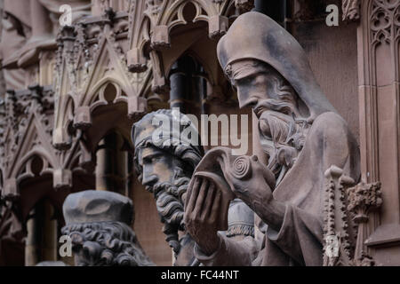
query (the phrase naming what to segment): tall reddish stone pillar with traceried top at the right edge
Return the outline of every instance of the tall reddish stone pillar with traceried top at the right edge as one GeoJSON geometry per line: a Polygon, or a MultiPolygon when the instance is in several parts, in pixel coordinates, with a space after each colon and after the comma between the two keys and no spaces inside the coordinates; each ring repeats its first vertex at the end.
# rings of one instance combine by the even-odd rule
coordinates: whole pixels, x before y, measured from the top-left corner
{"type": "Polygon", "coordinates": [[[378,263],[391,265],[400,264],[399,13],[399,0],[361,1],[357,31],[362,175],[381,182],[383,199],[366,243],[378,263]]]}

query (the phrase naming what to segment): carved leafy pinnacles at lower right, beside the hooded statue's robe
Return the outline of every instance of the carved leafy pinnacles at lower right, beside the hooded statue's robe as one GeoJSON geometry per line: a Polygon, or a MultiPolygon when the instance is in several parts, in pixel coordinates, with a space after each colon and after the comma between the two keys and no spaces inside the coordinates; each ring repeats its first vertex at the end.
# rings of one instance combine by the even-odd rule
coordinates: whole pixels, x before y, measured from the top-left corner
{"type": "Polygon", "coordinates": [[[335,166],[326,170],[325,177],[324,265],[375,265],[364,242],[368,215],[382,204],[380,182],[354,185],[335,166]]]}

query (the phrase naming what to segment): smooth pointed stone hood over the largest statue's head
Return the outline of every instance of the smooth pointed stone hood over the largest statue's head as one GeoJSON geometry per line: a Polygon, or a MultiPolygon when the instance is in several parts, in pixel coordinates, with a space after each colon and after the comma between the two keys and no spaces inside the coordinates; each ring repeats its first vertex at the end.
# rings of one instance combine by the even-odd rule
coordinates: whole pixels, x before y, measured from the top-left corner
{"type": "Polygon", "coordinates": [[[268,16],[260,12],[239,16],[220,39],[217,51],[224,70],[241,59],[259,59],[274,67],[308,106],[310,122],[319,114],[336,112],[316,83],[300,43],[268,16]]]}

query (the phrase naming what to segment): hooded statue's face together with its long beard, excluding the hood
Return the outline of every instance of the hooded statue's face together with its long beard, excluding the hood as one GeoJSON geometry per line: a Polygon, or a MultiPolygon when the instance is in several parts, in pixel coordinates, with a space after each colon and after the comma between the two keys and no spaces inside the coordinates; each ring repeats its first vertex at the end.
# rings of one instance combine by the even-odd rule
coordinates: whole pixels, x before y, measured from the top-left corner
{"type": "Polygon", "coordinates": [[[302,118],[300,107],[306,108],[292,85],[266,63],[244,59],[231,64],[229,71],[239,106],[251,106],[259,118],[261,146],[271,157],[270,168],[279,176],[283,165],[285,169],[292,167],[303,143],[306,128],[296,120],[302,118]]]}

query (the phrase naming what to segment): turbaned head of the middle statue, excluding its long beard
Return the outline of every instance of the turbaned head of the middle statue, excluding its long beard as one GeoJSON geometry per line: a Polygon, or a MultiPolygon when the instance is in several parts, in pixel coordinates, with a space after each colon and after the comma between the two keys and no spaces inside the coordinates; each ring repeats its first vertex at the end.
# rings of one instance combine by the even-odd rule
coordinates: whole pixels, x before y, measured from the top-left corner
{"type": "Polygon", "coordinates": [[[182,115],[174,115],[172,110],[158,110],[146,114],[133,125],[135,169],[141,183],[150,192],[155,185],[173,184],[180,177],[190,178],[203,156],[201,146],[193,145],[180,136],[188,128],[192,135],[198,136],[193,125],[180,121],[182,115]],[[174,125],[178,125],[177,128],[174,125]],[[156,131],[159,136],[155,135],[156,131]]]}

